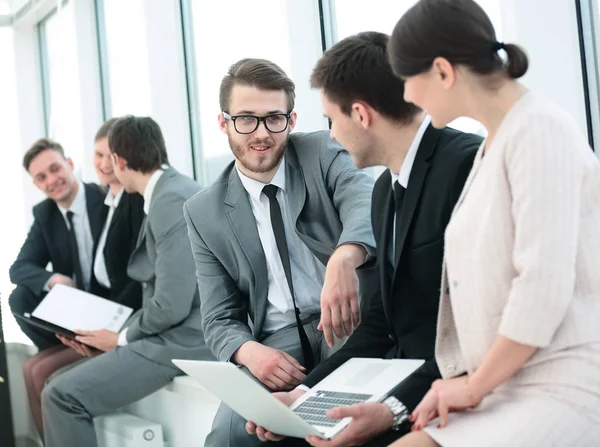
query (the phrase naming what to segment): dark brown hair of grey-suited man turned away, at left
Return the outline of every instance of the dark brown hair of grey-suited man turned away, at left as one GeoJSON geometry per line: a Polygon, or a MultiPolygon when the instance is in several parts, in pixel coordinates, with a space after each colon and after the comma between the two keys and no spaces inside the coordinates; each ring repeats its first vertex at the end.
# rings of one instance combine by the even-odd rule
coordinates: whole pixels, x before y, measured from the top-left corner
{"type": "Polygon", "coordinates": [[[148,116],[118,118],[108,130],[108,147],[132,171],[148,174],[169,164],[160,126],[148,116]]]}

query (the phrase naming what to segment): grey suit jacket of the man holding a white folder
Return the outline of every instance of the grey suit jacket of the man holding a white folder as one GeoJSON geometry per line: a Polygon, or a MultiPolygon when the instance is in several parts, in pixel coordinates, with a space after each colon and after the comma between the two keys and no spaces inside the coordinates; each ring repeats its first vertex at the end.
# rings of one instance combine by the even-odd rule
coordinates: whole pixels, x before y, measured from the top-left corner
{"type": "Polygon", "coordinates": [[[158,179],[127,274],[142,283],[143,304],[128,320],[127,342],[138,354],[171,365],[172,358],[214,359],[204,343],[200,301],[182,207],[200,190],[168,168],[158,179]]]}

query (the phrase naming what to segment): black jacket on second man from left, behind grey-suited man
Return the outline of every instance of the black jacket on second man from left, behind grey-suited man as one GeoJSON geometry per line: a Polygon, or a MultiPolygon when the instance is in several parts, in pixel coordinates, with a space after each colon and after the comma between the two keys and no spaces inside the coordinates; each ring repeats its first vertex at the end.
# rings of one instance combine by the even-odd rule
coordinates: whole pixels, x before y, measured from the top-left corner
{"type": "Polygon", "coordinates": [[[115,209],[104,246],[104,262],[110,280],[110,299],[137,310],[142,306],[142,286],[127,276],[129,257],[136,247],[144,221],[144,199],[123,192],[115,209]]]}

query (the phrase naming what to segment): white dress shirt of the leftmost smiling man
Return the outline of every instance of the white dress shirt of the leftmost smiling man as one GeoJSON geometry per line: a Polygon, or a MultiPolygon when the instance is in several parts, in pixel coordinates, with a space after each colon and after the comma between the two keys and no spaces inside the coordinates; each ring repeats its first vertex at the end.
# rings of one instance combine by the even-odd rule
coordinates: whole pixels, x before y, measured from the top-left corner
{"type": "MultiPolygon", "coordinates": [[[[79,253],[79,265],[83,274],[83,284],[86,290],[90,288],[90,277],[92,275],[92,257],[94,251],[94,238],[92,237],[92,229],[90,228],[90,219],[87,214],[87,201],[85,199],[85,187],[79,182],[77,195],[71,206],[63,208],[58,205],[60,213],[65,219],[67,228],[70,230],[71,225],[67,218],[67,212],[73,213],[73,226],[75,231],[75,239],[77,240],[77,251],[79,253]]],[[[76,282],[75,273],[73,272],[73,282],[76,282]]],[[[47,285],[47,284],[46,284],[47,285]]]]}

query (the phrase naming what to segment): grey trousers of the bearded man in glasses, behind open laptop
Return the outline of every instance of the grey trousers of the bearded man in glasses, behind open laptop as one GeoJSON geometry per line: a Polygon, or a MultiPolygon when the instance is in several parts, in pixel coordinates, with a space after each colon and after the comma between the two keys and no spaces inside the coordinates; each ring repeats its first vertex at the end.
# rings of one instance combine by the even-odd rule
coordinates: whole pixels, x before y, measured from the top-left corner
{"type": "MultiPolygon", "coordinates": [[[[339,349],[339,346],[336,343],[336,346],[329,348],[325,342],[323,333],[317,330],[318,325],[319,320],[317,319],[311,323],[304,324],[304,330],[313,348],[315,359],[320,361],[333,354],[336,349],[339,349]]],[[[263,345],[287,352],[300,363],[304,363],[302,346],[298,337],[298,328],[295,325],[280,329],[259,341],[263,345]]],[[[242,370],[250,374],[246,368],[242,368],[242,370]]],[[[245,425],[246,420],[244,418],[227,405],[221,404],[215,415],[212,430],[204,442],[204,447],[263,446],[264,443],[256,436],[249,435],[246,432],[245,425]]]]}

